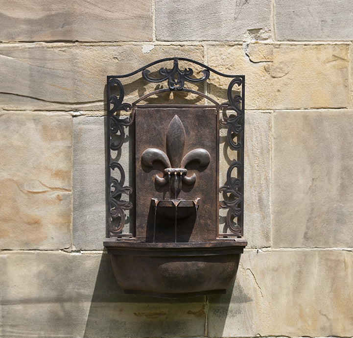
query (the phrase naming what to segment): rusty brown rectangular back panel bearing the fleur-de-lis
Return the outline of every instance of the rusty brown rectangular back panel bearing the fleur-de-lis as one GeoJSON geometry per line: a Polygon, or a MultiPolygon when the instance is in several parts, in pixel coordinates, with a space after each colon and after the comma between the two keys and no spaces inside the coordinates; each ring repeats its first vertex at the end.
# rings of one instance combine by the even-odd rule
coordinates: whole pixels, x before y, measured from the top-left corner
{"type": "Polygon", "coordinates": [[[136,238],[148,242],[213,241],[218,220],[217,109],[136,107],[134,116],[136,238]],[[143,161],[143,152],[150,148],[161,153],[151,151],[150,161],[143,161]],[[209,163],[206,159],[200,165],[203,151],[197,156],[195,149],[206,151],[209,163]],[[182,164],[192,151],[195,156],[189,156],[190,161],[182,164]],[[194,182],[188,182],[191,177],[195,178],[194,182]],[[172,201],[168,203],[168,200],[172,201]],[[188,209],[189,214],[183,209],[188,209]]]}

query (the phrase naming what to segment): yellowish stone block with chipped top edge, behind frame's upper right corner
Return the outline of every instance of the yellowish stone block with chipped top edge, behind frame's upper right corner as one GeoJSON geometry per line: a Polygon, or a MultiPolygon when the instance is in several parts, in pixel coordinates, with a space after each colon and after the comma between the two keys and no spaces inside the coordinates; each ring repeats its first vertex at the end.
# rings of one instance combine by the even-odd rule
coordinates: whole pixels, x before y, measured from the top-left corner
{"type": "MultiPolygon", "coordinates": [[[[245,74],[246,109],[350,107],[348,45],[208,46],[208,65],[245,74]]],[[[209,93],[223,102],[229,79],[210,76],[209,93]]]]}

